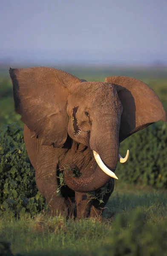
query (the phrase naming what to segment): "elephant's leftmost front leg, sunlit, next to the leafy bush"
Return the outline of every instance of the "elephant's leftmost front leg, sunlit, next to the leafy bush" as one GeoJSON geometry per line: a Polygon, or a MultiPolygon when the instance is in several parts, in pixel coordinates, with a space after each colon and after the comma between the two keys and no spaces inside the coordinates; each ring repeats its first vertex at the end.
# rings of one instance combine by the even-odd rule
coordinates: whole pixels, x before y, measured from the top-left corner
{"type": "Polygon", "coordinates": [[[66,215],[72,217],[72,201],[69,197],[58,194],[57,179],[58,163],[55,159],[54,148],[42,146],[37,156],[35,179],[40,193],[46,198],[52,215],[66,215]]]}

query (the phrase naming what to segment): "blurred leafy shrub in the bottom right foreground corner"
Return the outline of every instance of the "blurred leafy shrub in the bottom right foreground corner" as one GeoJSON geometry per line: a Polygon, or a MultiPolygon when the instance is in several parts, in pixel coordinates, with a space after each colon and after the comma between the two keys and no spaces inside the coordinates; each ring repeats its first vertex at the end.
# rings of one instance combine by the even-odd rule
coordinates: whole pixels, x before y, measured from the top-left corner
{"type": "Polygon", "coordinates": [[[96,254],[103,256],[166,256],[167,222],[145,223],[141,211],[115,217],[113,229],[96,254]]]}

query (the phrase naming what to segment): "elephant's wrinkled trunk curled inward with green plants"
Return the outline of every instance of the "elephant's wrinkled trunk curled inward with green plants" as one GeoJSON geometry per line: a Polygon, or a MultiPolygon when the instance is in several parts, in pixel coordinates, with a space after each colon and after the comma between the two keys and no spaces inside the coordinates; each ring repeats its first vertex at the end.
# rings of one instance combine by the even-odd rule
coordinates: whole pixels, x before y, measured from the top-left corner
{"type": "MultiPolygon", "coordinates": [[[[98,134],[98,139],[95,139],[93,132],[91,133],[90,151],[93,158],[92,166],[96,166],[96,168],[94,168],[94,170],[92,170],[92,168],[91,174],[86,175],[85,177],[84,172],[81,177],[74,177],[73,172],[68,170],[68,173],[66,173],[64,177],[67,186],[78,192],[90,192],[101,188],[109,182],[111,177],[103,172],[96,164],[93,151],[99,154],[105,166],[114,173],[119,155],[119,125],[119,122],[117,122],[116,125],[112,125],[111,122],[108,122],[107,125],[107,121],[105,120],[105,127],[107,128],[106,132],[98,134]]],[[[75,169],[75,165],[71,165],[70,167],[75,169]]]]}

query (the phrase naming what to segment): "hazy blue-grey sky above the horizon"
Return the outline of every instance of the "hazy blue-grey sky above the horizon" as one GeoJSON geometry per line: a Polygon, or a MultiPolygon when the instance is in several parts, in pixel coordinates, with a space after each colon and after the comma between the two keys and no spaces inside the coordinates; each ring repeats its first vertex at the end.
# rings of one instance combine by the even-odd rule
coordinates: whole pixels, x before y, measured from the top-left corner
{"type": "Polygon", "coordinates": [[[0,0],[0,63],[167,64],[167,0],[0,0]]]}

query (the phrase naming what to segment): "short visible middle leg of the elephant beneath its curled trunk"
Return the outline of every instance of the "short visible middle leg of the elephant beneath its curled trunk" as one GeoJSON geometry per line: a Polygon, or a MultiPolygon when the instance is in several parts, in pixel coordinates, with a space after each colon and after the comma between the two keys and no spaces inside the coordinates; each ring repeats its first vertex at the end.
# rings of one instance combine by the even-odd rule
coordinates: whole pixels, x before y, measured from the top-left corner
{"type": "Polygon", "coordinates": [[[92,206],[92,200],[90,200],[85,193],[75,192],[75,201],[77,207],[76,218],[88,218],[92,206]]]}

